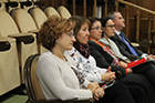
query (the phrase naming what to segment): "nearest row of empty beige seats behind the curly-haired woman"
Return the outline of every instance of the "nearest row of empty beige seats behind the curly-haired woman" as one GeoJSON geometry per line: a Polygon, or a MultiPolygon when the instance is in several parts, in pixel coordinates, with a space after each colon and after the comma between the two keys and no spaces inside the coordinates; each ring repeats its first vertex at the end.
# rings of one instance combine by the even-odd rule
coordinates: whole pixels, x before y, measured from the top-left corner
{"type": "Polygon", "coordinates": [[[46,51],[39,44],[37,34],[52,14],[71,17],[62,6],[58,10],[48,7],[44,11],[33,7],[29,12],[14,8],[10,13],[0,9],[0,95],[24,84],[23,68],[28,56],[46,51]]]}

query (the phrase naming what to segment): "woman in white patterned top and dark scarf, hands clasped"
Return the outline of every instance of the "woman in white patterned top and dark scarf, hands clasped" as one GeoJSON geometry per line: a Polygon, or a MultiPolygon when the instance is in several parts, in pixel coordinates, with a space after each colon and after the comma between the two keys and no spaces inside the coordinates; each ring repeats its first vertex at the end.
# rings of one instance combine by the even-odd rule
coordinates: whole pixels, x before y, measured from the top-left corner
{"type": "MultiPolygon", "coordinates": [[[[95,60],[92,55],[90,55],[90,50],[87,45],[90,32],[89,32],[89,25],[90,21],[83,17],[71,17],[71,20],[75,21],[75,28],[74,28],[74,33],[75,33],[75,39],[76,42],[74,42],[74,47],[71,51],[66,51],[73,60],[76,62],[75,66],[78,71],[84,74],[84,78],[91,82],[108,82],[115,79],[115,73],[111,72],[111,68],[106,71],[106,69],[97,68],[95,60]]],[[[131,97],[131,93],[127,91],[132,91],[131,89],[135,89],[138,91],[140,87],[136,85],[132,86],[126,86],[123,83],[116,83],[113,86],[105,89],[105,95],[103,99],[100,99],[100,102],[103,101],[103,103],[126,103],[130,101],[135,101],[134,97],[131,97]],[[115,96],[120,95],[120,96],[115,96]],[[128,96],[127,96],[128,95],[128,96]],[[127,99],[131,97],[131,99],[127,99]],[[128,101],[126,101],[128,100],[128,101]]],[[[133,91],[135,92],[135,91],[133,91]]],[[[142,91],[137,92],[138,95],[143,95],[142,91]]],[[[143,97],[144,100],[136,101],[135,103],[142,103],[145,101],[145,96],[143,97]]],[[[138,97],[136,96],[136,100],[138,97]]],[[[131,103],[131,102],[130,102],[131,103]]]]}

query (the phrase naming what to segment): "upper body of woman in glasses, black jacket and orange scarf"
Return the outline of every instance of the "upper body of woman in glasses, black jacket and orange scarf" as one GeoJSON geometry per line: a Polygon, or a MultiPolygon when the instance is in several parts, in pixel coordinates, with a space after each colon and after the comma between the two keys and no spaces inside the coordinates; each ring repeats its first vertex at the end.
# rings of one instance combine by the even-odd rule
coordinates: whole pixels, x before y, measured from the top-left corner
{"type": "MultiPolygon", "coordinates": [[[[112,66],[112,70],[113,71],[120,71],[122,73],[122,75],[125,75],[132,71],[127,71],[124,69],[124,64],[118,61],[117,56],[112,52],[112,50],[105,45],[104,43],[100,42],[100,39],[102,37],[102,31],[103,31],[103,27],[101,24],[101,21],[100,19],[97,18],[90,18],[90,21],[92,23],[92,27],[90,29],[90,41],[89,41],[89,44],[90,44],[90,50],[91,50],[91,54],[95,58],[96,60],[96,63],[101,68],[107,68],[107,66],[112,66]],[[97,47],[101,47],[102,49],[102,52],[97,52],[97,50],[100,48],[97,47]],[[94,49],[92,49],[94,48],[94,49]],[[104,58],[102,58],[102,60],[100,60],[99,58],[101,56],[97,56],[97,54],[104,58]],[[112,60],[111,60],[112,59],[112,60]],[[104,63],[103,63],[104,61],[104,63]],[[120,63],[120,68],[115,66],[117,63],[120,63]]],[[[107,27],[108,32],[114,32],[114,29],[111,28],[111,27],[107,27]],[[111,30],[111,31],[110,31],[111,30]]]]}

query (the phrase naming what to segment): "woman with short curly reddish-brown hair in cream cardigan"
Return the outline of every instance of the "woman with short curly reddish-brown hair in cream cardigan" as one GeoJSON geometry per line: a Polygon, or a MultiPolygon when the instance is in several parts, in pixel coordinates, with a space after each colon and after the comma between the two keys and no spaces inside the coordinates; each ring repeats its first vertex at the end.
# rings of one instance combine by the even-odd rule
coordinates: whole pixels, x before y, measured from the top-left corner
{"type": "Polygon", "coordinates": [[[70,63],[72,58],[64,54],[75,41],[74,25],[71,20],[52,16],[39,31],[39,41],[49,50],[40,55],[37,66],[37,76],[46,100],[81,100],[93,96],[99,100],[104,95],[103,89],[96,82],[84,80],[70,63]],[[81,89],[80,84],[85,89],[81,89]]]}

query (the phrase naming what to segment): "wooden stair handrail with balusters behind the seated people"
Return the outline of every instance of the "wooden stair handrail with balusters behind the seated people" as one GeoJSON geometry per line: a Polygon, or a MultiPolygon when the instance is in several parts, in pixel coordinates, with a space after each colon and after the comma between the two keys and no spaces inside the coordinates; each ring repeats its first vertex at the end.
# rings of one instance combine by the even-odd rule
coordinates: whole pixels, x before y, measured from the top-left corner
{"type": "MultiPolygon", "coordinates": [[[[94,0],[94,17],[96,17],[96,1],[94,0]]],[[[105,9],[104,9],[104,13],[105,16],[107,14],[107,1],[108,0],[104,0],[105,2],[105,9]]],[[[130,11],[130,7],[133,7],[135,9],[137,9],[136,11],[136,42],[140,41],[140,16],[141,16],[141,11],[147,12],[148,13],[148,41],[151,41],[151,20],[153,16],[153,29],[155,30],[155,11],[136,6],[134,3],[127,2],[127,1],[123,1],[123,0],[115,0],[115,10],[118,11],[118,2],[124,3],[126,6],[125,8],[125,12],[126,12],[126,35],[128,37],[128,23],[130,23],[130,18],[128,18],[128,11],[130,11]]],[[[83,9],[84,9],[84,13],[83,16],[86,17],[86,0],[83,0],[83,9]]],[[[75,0],[73,0],[73,16],[75,14],[75,0]]]]}

